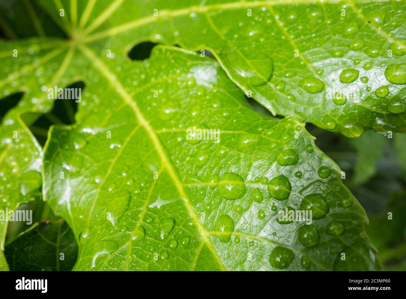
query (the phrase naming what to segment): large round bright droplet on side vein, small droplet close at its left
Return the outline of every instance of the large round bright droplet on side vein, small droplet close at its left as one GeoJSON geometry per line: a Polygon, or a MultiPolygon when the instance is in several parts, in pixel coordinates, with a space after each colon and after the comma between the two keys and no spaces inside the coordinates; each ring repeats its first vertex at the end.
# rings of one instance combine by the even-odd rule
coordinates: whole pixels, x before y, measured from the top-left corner
{"type": "Polygon", "coordinates": [[[226,172],[220,178],[218,190],[225,199],[240,199],[247,192],[244,179],[233,172],[226,172]]]}

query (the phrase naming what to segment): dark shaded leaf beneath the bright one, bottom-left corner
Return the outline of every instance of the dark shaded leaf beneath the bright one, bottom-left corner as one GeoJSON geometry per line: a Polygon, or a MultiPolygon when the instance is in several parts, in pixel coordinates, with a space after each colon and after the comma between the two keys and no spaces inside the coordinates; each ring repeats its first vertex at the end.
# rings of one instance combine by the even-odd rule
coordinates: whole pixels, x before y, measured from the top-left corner
{"type": "Polygon", "coordinates": [[[11,271],[70,271],[78,246],[62,219],[36,223],[20,234],[4,251],[11,271]]]}

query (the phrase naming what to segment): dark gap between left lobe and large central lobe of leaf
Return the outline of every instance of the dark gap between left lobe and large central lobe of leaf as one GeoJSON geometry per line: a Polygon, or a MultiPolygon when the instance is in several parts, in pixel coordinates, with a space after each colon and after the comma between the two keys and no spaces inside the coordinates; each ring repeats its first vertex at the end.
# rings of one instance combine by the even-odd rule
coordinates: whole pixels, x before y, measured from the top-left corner
{"type": "MultiPolygon", "coordinates": [[[[64,88],[64,91],[70,89],[74,90],[75,94],[82,94],[85,84],[83,81],[75,82],[64,88]]],[[[51,87],[52,88],[52,87],[51,87]]],[[[70,95],[70,94],[69,94],[70,95]]],[[[70,98],[56,98],[54,100],[54,107],[52,111],[41,115],[31,126],[30,130],[37,138],[38,142],[43,146],[47,140],[48,130],[52,124],[74,124],[75,114],[78,111],[78,103],[76,99],[70,98]]],[[[78,99],[80,100],[80,98],[78,99]]]]}

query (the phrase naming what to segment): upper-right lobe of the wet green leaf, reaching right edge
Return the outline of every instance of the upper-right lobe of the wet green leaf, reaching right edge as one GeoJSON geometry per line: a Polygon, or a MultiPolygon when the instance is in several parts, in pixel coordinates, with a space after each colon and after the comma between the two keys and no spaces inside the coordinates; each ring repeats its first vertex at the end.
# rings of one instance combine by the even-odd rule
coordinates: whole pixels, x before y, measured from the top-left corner
{"type": "MultiPolygon", "coordinates": [[[[202,55],[209,49],[233,82],[274,114],[349,137],[364,129],[406,133],[404,1],[92,5],[86,28],[74,34],[100,50],[146,39],[202,55]]],[[[43,6],[58,16],[48,1],[43,6]]]]}

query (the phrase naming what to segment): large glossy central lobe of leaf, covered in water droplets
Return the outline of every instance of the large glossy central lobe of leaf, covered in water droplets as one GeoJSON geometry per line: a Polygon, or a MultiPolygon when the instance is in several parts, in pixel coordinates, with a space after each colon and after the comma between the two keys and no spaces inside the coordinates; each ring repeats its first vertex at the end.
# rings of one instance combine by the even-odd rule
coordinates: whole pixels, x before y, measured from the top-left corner
{"type": "Polygon", "coordinates": [[[76,270],[377,267],[365,212],[302,124],[252,111],[193,52],[96,53],[73,55],[86,93],[44,150],[44,196],[79,240],[76,270]],[[313,223],[279,221],[285,208],[312,210],[313,223]]]}

